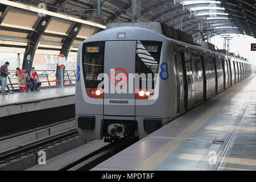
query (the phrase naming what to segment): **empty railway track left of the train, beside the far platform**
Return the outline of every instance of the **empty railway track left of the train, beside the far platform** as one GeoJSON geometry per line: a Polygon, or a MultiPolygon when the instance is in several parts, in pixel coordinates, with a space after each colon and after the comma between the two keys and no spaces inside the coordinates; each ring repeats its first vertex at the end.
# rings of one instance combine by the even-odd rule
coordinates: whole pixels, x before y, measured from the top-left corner
{"type": "Polygon", "coordinates": [[[75,138],[78,135],[77,130],[73,129],[64,133],[56,134],[51,137],[20,146],[13,150],[2,152],[0,154],[0,164],[11,163],[14,159],[20,159],[22,156],[35,154],[36,152],[47,148],[48,146],[54,146],[57,143],[61,143],[64,140],[75,138]]]}

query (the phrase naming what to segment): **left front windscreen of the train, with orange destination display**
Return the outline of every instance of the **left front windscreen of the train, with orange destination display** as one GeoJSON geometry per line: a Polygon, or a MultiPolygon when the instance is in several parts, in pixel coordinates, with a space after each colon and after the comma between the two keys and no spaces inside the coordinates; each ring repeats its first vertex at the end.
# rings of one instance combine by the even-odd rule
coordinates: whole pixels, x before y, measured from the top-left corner
{"type": "Polygon", "coordinates": [[[97,88],[101,82],[97,80],[104,72],[104,42],[85,43],[82,48],[82,69],[86,88],[97,88]]]}

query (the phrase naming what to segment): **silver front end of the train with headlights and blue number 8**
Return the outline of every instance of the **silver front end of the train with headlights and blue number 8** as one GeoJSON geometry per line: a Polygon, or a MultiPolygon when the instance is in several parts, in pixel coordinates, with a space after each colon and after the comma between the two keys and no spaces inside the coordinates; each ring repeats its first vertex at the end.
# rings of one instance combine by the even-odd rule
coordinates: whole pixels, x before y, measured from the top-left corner
{"type": "Polygon", "coordinates": [[[127,135],[143,138],[167,122],[164,118],[176,112],[169,44],[151,30],[117,27],[80,45],[76,124],[82,137],[106,142],[127,135]]]}

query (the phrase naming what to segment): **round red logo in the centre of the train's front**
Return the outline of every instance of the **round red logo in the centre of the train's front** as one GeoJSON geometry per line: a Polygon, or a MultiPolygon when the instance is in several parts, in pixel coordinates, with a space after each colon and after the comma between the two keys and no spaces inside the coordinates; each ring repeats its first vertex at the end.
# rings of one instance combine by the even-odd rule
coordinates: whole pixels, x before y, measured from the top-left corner
{"type": "Polygon", "coordinates": [[[115,87],[118,87],[118,88],[122,88],[123,86],[125,86],[127,84],[128,81],[129,81],[129,75],[125,71],[125,69],[123,69],[123,68],[111,69],[110,82],[112,85],[114,85],[115,87]],[[116,74],[117,71],[121,71],[124,74],[123,73],[116,74]],[[119,81],[119,82],[117,84],[115,84],[115,81],[119,81]]]}

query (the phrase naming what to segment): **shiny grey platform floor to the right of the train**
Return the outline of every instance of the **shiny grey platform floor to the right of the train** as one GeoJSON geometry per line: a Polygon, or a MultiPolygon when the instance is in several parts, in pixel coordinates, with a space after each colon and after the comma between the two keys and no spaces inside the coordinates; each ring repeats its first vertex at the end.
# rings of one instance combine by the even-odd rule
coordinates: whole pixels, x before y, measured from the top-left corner
{"type": "Polygon", "coordinates": [[[256,170],[256,76],[195,107],[92,170],[256,170]]]}

